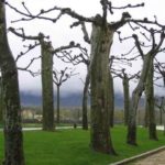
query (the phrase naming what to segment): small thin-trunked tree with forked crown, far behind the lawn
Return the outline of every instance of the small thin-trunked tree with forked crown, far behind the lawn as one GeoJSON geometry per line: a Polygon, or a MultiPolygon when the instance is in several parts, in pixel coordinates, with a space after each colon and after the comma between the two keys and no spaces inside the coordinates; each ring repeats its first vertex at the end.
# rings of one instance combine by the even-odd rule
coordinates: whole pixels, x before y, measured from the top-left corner
{"type": "Polygon", "coordinates": [[[67,81],[70,77],[76,76],[78,73],[75,73],[75,69],[65,67],[64,69],[62,69],[61,72],[58,72],[57,69],[53,69],[53,82],[56,85],[57,87],[57,107],[56,107],[56,122],[59,123],[61,122],[61,112],[59,112],[59,107],[61,107],[61,87],[62,85],[67,81]],[[68,72],[69,70],[69,72],[68,72]]]}

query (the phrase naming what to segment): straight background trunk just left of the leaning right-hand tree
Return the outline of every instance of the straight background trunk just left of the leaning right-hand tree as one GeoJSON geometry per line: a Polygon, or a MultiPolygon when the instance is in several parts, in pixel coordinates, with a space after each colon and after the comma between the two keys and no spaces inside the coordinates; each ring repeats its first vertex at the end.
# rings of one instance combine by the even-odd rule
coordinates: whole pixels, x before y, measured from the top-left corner
{"type": "Polygon", "coordinates": [[[129,78],[127,75],[123,77],[123,95],[124,95],[124,124],[129,122],[129,108],[130,108],[130,90],[129,90],[129,78]]]}

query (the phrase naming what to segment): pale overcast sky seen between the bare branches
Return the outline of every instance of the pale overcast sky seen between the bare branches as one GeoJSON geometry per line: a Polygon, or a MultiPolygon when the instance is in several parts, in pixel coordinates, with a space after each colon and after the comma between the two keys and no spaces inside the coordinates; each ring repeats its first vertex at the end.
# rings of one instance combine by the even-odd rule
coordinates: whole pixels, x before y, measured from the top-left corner
{"type": "MultiPolygon", "coordinates": [[[[8,0],[11,4],[19,8],[20,10],[24,10],[22,8],[22,0],[8,0]]],[[[85,16],[94,16],[96,13],[101,12],[101,6],[99,3],[100,0],[24,0],[25,4],[30,9],[32,13],[37,13],[41,9],[48,9],[54,6],[58,7],[69,7],[76,12],[85,15],[85,16]]],[[[145,2],[144,8],[138,8],[138,9],[130,9],[129,12],[131,15],[135,19],[143,19],[148,18],[153,20],[153,15],[157,15],[157,19],[161,23],[165,24],[165,16],[164,16],[164,7],[165,1],[164,0],[113,0],[113,6],[120,7],[125,6],[128,3],[136,4],[145,2]]],[[[128,11],[128,10],[127,10],[128,11]]],[[[116,11],[113,15],[109,15],[109,21],[117,21],[121,18],[122,11],[116,11]]],[[[54,13],[55,14],[55,13],[54,13]]],[[[73,19],[70,19],[67,15],[64,15],[56,24],[53,24],[51,22],[42,21],[42,20],[35,20],[31,22],[20,22],[11,24],[11,20],[16,20],[19,18],[22,18],[21,15],[16,14],[11,9],[7,8],[7,15],[8,15],[8,26],[14,26],[14,28],[24,28],[25,33],[30,35],[37,35],[38,32],[43,32],[45,35],[51,36],[51,41],[53,42],[53,46],[56,48],[61,45],[67,45],[69,41],[75,41],[78,43],[81,43],[82,46],[87,46],[89,48],[89,45],[85,44],[82,41],[82,33],[80,31],[80,28],[75,28],[73,30],[69,29],[69,25],[73,22],[73,19]]],[[[50,14],[52,16],[52,14],[50,14]]],[[[91,31],[90,24],[87,25],[89,34],[91,31]]],[[[124,34],[129,34],[130,32],[127,30],[127,28],[123,29],[124,34]]],[[[116,42],[114,38],[113,45],[112,45],[112,54],[120,54],[122,52],[125,52],[125,46],[119,46],[119,43],[116,42]]],[[[9,33],[9,42],[11,50],[13,52],[13,55],[16,56],[21,51],[23,51],[23,44],[20,38],[14,36],[13,34],[9,33]]],[[[33,43],[33,42],[29,42],[33,43]]],[[[89,51],[90,53],[90,51],[89,51]]],[[[35,51],[32,51],[26,57],[20,59],[18,62],[18,66],[25,66],[30,58],[32,56],[38,56],[40,55],[40,47],[37,47],[35,51]]],[[[161,61],[165,62],[165,55],[160,55],[161,61]]],[[[54,65],[56,68],[63,68],[65,67],[65,64],[62,64],[59,59],[54,61],[54,65]]],[[[40,69],[40,61],[35,62],[32,66],[32,69],[37,70],[40,69]]],[[[131,68],[131,72],[136,72],[141,68],[141,63],[134,63],[134,67],[131,68]]],[[[86,67],[85,65],[79,65],[76,67],[76,72],[80,73],[80,75],[75,76],[70,78],[67,82],[64,84],[62,87],[63,91],[77,91],[82,90],[82,82],[79,78],[85,78],[86,75],[86,67]]],[[[41,90],[41,77],[32,77],[29,73],[19,72],[19,79],[20,79],[20,88],[21,90],[30,90],[30,91],[40,91],[41,90]]],[[[119,79],[116,79],[116,90],[122,91],[122,85],[119,79]]],[[[131,85],[133,88],[133,84],[131,85]]],[[[56,90],[56,89],[55,89],[56,90]]]]}

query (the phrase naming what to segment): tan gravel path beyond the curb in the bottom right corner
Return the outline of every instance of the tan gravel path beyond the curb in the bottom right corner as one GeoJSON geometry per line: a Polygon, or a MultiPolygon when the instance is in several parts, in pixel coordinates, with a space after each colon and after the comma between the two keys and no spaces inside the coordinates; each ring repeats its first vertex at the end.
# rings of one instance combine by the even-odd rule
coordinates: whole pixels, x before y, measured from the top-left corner
{"type": "Polygon", "coordinates": [[[165,150],[130,165],[165,165],[165,150]]]}

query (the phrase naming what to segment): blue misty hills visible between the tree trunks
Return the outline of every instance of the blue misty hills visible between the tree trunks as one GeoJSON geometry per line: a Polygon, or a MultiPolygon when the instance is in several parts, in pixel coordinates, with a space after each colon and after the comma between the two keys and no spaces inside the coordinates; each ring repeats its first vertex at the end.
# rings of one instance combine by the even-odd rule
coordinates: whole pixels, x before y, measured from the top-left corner
{"type": "MultiPolygon", "coordinates": [[[[123,95],[117,92],[114,95],[116,107],[123,107],[123,95]]],[[[61,106],[62,107],[80,107],[81,106],[82,94],[67,94],[61,96],[61,106]]],[[[56,96],[54,97],[56,103],[56,96]]],[[[22,106],[42,106],[42,96],[40,94],[32,94],[28,91],[21,91],[21,103],[22,106]]]]}

